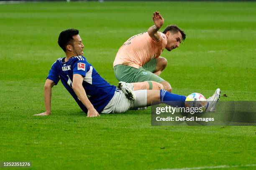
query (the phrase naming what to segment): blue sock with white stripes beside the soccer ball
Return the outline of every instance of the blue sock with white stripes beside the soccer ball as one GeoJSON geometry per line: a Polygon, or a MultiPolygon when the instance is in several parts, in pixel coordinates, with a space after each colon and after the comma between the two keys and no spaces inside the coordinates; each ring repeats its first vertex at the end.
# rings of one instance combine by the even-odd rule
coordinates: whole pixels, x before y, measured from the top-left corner
{"type": "Polygon", "coordinates": [[[160,100],[167,105],[174,107],[184,107],[186,96],[175,95],[173,93],[167,92],[166,90],[160,90],[160,100]],[[172,101],[172,102],[170,102],[172,101]]]}

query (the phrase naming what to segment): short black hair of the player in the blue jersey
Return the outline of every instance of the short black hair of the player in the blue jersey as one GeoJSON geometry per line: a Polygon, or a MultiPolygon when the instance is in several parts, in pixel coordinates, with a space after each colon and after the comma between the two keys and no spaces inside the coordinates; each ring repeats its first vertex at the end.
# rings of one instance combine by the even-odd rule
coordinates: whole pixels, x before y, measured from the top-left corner
{"type": "Polygon", "coordinates": [[[74,43],[73,36],[78,34],[79,34],[79,30],[76,30],[76,29],[68,29],[68,30],[61,31],[61,33],[59,34],[58,44],[64,52],[66,52],[67,50],[66,47],[68,44],[73,45],[74,43]]]}

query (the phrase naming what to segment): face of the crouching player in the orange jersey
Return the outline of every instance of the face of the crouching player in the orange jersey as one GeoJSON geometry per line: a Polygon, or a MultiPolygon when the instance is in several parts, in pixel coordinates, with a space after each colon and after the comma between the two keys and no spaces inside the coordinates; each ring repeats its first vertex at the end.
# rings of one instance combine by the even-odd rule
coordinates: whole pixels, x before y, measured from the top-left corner
{"type": "Polygon", "coordinates": [[[182,35],[178,31],[177,33],[172,33],[172,32],[166,32],[166,37],[167,37],[167,45],[166,45],[166,50],[171,51],[174,48],[179,47],[179,44],[182,40],[182,35]]]}

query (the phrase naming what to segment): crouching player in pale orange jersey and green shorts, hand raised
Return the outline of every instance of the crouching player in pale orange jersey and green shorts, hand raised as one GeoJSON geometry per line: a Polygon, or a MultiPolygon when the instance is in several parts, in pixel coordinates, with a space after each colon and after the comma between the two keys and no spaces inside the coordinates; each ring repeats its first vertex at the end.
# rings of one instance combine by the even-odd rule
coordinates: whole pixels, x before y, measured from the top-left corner
{"type": "MultiPolygon", "coordinates": [[[[186,34],[176,25],[159,32],[164,18],[157,11],[153,21],[154,25],[147,32],[134,35],[119,48],[113,63],[115,77],[122,82],[144,82],[143,87],[149,90],[160,87],[172,92],[169,82],[159,77],[167,65],[167,60],[160,55],[164,49],[171,51],[179,47],[186,34]]],[[[141,89],[142,84],[135,84],[135,90],[141,89]]]]}

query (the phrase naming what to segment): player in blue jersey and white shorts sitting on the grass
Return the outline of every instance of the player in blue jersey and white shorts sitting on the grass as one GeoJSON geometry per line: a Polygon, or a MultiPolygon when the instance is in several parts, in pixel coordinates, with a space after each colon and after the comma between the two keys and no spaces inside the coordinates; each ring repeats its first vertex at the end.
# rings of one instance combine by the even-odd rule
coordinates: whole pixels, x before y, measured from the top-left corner
{"type": "MultiPolygon", "coordinates": [[[[59,80],[79,107],[87,113],[87,117],[100,116],[99,113],[126,112],[129,109],[149,106],[153,101],[180,101],[178,107],[184,107],[186,96],[183,95],[176,95],[166,90],[133,91],[132,83],[123,83],[119,86],[120,89],[110,85],[83,56],[84,45],[78,30],[62,31],[58,44],[64,50],[66,57],[58,58],[51,66],[44,85],[46,111],[36,114],[37,116],[51,114],[51,89],[59,80]]],[[[219,97],[220,89],[217,89],[208,98],[205,111],[213,111],[219,97]]]]}

